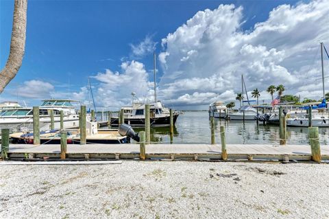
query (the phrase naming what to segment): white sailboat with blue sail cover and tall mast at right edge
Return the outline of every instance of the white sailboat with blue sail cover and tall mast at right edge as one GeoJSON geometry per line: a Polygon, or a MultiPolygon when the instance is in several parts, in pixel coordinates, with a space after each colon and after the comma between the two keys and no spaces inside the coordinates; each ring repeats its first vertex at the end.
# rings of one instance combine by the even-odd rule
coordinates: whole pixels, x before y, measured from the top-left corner
{"type": "MultiPolygon", "coordinates": [[[[324,43],[320,43],[321,49],[321,73],[322,73],[322,94],[323,100],[321,104],[317,106],[313,106],[313,109],[317,109],[319,113],[315,113],[312,118],[312,126],[314,127],[328,127],[329,126],[329,118],[328,113],[320,113],[320,111],[326,112],[326,94],[324,91],[324,50],[326,51],[326,55],[329,58],[329,54],[327,52],[324,43]]],[[[308,108],[308,107],[307,107],[308,108]]],[[[287,119],[287,126],[298,126],[298,127],[308,127],[308,114],[304,114],[301,117],[297,118],[289,118],[287,119]]]]}

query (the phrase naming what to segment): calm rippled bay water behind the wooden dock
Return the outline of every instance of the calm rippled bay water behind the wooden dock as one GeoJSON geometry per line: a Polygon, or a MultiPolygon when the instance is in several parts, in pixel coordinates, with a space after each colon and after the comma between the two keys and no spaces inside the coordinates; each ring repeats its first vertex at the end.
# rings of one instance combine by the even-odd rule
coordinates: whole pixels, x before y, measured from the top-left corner
{"type": "MultiPolygon", "coordinates": [[[[279,143],[279,127],[264,126],[256,121],[243,124],[242,121],[215,119],[216,141],[220,143],[219,126],[226,127],[226,142],[239,144],[279,143]]],[[[143,128],[134,128],[135,131],[143,128]]],[[[287,127],[287,144],[308,144],[308,128],[287,127]]],[[[329,144],[329,128],[319,128],[321,144],[329,144]]],[[[151,128],[151,141],[170,143],[169,127],[151,128]]],[[[210,143],[210,119],[208,112],[184,112],[175,124],[173,143],[210,143]]]]}

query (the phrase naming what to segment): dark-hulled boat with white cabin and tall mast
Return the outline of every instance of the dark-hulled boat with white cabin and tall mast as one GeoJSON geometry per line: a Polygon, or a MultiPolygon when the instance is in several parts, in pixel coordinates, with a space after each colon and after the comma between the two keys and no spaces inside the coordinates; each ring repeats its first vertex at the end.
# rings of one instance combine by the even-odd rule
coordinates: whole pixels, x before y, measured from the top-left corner
{"type": "MultiPolygon", "coordinates": [[[[125,124],[130,126],[145,126],[145,104],[136,102],[136,93],[132,92],[132,106],[123,106],[123,117],[125,124]]],[[[169,108],[163,106],[160,100],[156,98],[156,53],[154,52],[154,102],[149,102],[150,110],[150,124],[151,126],[169,126],[170,125],[170,111],[169,108]]],[[[173,112],[173,124],[175,124],[178,111],[173,112]]],[[[119,117],[111,117],[111,126],[119,126],[119,117]]]]}

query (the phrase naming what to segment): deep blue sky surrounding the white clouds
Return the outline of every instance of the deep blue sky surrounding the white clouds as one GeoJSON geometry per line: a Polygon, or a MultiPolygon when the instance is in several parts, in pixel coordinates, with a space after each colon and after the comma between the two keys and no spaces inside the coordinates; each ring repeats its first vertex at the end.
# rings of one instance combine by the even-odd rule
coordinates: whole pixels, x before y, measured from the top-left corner
{"type": "MultiPolygon", "coordinates": [[[[174,34],[178,27],[186,23],[199,11],[204,11],[207,8],[213,11],[217,10],[221,4],[229,5],[231,3],[235,5],[235,11],[232,13],[237,12],[240,6],[243,8],[243,12],[239,17],[239,27],[236,28],[235,32],[247,34],[254,30],[256,23],[267,21],[269,12],[273,8],[284,3],[295,5],[297,1],[30,0],[27,6],[27,41],[23,65],[16,78],[0,95],[0,100],[16,100],[15,92],[19,91],[20,101],[26,100],[29,104],[38,104],[38,100],[43,97],[58,97],[61,93],[68,93],[69,81],[71,93],[81,94],[89,76],[97,76],[97,73],[105,74],[106,69],[110,69],[112,73],[118,71],[121,74],[123,73],[122,63],[131,63],[133,60],[144,65],[143,69],[147,72],[148,77],[147,82],[153,82],[154,78],[151,72],[151,69],[153,69],[153,54],[150,50],[143,50],[145,49],[143,47],[145,39],[151,42],[152,46],[149,49],[152,50],[155,47],[157,54],[169,51],[169,45],[167,45],[168,48],[161,45],[162,39],[167,38],[168,34],[174,34]],[[141,45],[139,48],[142,51],[141,54],[136,55],[133,48],[138,48],[138,45],[141,45]],[[26,83],[31,80],[37,80],[41,87],[42,82],[47,82],[53,87],[47,84],[44,90],[38,90],[38,92],[45,91],[45,95],[40,94],[38,96],[35,93],[25,95],[24,89],[31,88],[26,86],[26,83]],[[49,89],[51,89],[51,93],[57,94],[47,93],[49,89]]],[[[308,4],[308,1],[304,1],[304,3],[308,4]]],[[[12,10],[13,1],[0,1],[1,68],[5,65],[9,53],[12,10]]],[[[258,46],[263,45],[263,43],[257,42],[253,45],[258,46]]],[[[268,48],[267,50],[271,49],[268,45],[265,45],[265,47],[268,48]]],[[[280,48],[280,45],[276,45],[276,47],[280,48]]],[[[191,49],[190,51],[197,51],[197,49],[191,49]]],[[[201,53],[199,52],[199,54],[201,53]]],[[[200,57],[204,56],[200,55],[200,57]]],[[[171,66],[167,67],[166,70],[164,62],[157,61],[159,63],[157,81],[160,82],[164,73],[169,74],[166,71],[171,69],[171,66]]],[[[166,64],[169,65],[169,62],[166,64]]],[[[286,69],[289,69],[289,67],[286,67],[286,69]]],[[[293,71],[292,69],[289,70],[293,71]]],[[[208,77],[207,74],[203,75],[202,72],[198,74],[200,78],[208,77]]],[[[185,75],[185,78],[189,78],[188,74],[185,75]]],[[[193,78],[192,75],[191,78],[193,78]]],[[[102,84],[100,86],[102,89],[111,89],[106,87],[104,80],[92,78],[91,81],[95,90],[99,89],[99,84],[102,84]]],[[[170,83],[173,83],[173,81],[170,83]]],[[[129,85],[127,89],[129,89],[129,85]]],[[[235,91],[235,93],[237,91],[234,88],[229,89],[232,92],[235,91]]],[[[114,89],[113,92],[115,91],[114,89]]],[[[149,92],[148,94],[151,95],[149,92]]],[[[218,95],[225,93],[224,90],[220,93],[216,89],[214,91],[210,89],[209,92],[218,95]]],[[[186,91],[185,93],[193,95],[195,92],[186,91]]],[[[166,98],[166,93],[163,92],[161,96],[169,104],[180,106],[184,103],[175,103],[171,100],[175,100],[185,95],[185,93],[177,93],[178,96],[176,97],[166,98]]],[[[203,91],[203,93],[208,92],[203,91]]],[[[106,93],[106,95],[110,95],[110,93],[106,93]]],[[[87,98],[86,95],[76,95],[76,97],[87,98]]],[[[99,97],[99,99],[101,100],[102,97],[99,97]]],[[[116,105],[117,107],[127,104],[127,97],[122,101],[119,99],[120,95],[117,95],[116,99],[112,100],[120,102],[116,105]]],[[[229,100],[230,98],[226,99],[229,100]]],[[[232,99],[234,97],[231,97],[232,99]]],[[[99,102],[99,106],[112,104],[99,102]]],[[[200,102],[195,106],[204,104],[205,102],[200,102]]]]}

